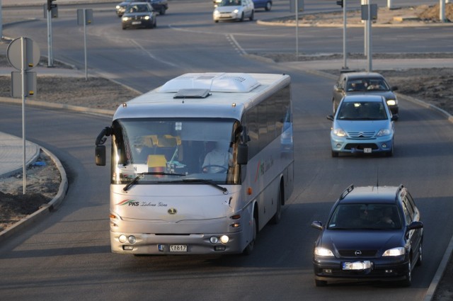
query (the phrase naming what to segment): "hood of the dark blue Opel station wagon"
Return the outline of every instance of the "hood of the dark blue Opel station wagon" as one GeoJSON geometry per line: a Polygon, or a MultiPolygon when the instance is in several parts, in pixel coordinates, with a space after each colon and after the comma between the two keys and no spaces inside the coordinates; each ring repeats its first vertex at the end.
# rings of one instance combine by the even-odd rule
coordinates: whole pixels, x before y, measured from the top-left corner
{"type": "Polygon", "coordinates": [[[382,254],[387,249],[403,246],[401,230],[326,230],[319,244],[338,254],[339,250],[377,250],[382,254]]]}

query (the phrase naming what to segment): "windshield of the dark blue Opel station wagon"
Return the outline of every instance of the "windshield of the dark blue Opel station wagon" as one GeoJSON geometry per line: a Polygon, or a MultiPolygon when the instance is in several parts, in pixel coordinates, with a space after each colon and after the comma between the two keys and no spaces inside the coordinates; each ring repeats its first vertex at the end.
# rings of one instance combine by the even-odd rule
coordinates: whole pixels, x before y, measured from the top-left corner
{"type": "Polygon", "coordinates": [[[337,206],[328,229],[401,229],[401,218],[396,205],[340,204],[337,206]]]}

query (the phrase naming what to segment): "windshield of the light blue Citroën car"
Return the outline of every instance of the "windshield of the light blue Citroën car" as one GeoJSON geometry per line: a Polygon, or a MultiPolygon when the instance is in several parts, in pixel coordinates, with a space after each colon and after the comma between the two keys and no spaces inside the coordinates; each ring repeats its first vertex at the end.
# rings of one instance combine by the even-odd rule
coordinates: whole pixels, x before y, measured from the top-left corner
{"type": "Polygon", "coordinates": [[[338,109],[338,120],[386,120],[384,102],[343,101],[338,109]]]}

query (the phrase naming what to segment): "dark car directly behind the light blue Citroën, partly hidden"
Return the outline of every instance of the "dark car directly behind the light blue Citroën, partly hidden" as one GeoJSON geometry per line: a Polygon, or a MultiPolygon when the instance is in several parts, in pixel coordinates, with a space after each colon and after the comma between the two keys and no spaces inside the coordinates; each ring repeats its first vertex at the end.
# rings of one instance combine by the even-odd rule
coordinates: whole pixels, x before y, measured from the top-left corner
{"type": "Polygon", "coordinates": [[[333,86],[333,113],[345,95],[376,94],[385,97],[391,113],[395,115],[395,120],[398,120],[398,99],[394,93],[397,89],[397,86],[389,86],[384,76],[377,72],[342,73],[333,86]]]}

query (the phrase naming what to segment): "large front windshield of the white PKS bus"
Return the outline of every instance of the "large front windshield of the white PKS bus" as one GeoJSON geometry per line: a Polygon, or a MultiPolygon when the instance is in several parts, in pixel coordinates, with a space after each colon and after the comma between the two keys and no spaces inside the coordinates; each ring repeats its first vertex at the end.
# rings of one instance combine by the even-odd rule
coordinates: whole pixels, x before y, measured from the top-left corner
{"type": "Polygon", "coordinates": [[[238,128],[218,118],[115,120],[112,183],[239,184],[238,128]]]}

